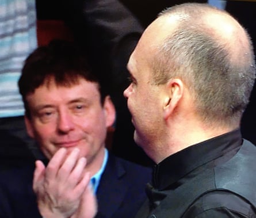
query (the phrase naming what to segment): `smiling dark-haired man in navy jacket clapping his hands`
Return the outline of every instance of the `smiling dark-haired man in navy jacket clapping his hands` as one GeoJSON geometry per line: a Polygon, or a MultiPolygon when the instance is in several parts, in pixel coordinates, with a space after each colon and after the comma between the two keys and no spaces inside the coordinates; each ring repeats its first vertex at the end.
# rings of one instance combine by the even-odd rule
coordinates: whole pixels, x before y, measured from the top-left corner
{"type": "Polygon", "coordinates": [[[89,180],[96,217],[135,215],[151,170],[106,150],[115,119],[107,83],[72,43],[52,41],[29,55],[18,83],[25,123],[49,163],[37,160],[34,176],[34,166],[1,175],[0,217],[92,217],[89,180]]]}

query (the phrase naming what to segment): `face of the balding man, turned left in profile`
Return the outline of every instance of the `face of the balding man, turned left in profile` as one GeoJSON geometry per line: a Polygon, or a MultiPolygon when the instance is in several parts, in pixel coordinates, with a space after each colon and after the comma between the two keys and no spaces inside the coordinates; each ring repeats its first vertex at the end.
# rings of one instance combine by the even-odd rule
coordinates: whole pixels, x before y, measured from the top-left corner
{"type": "Polygon", "coordinates": [[[131,77],[131,84],[125,89],[124,96],[132,114],[135,126],[135,142],[143,148],[148,156],[152,145],[158,140],[158,131],[162,120],[161,87],[154,85],[152,79],[152,48],[148,45],[148,38],[142,36],[133,51],[127,68],[131,77]]]}

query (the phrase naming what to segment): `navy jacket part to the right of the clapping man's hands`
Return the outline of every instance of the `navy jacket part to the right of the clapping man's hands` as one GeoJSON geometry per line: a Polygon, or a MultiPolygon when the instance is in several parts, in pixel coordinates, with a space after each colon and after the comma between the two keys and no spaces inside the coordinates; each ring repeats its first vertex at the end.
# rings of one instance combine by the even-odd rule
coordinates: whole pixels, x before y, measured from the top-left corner
{"type": "Polygon", "coordinates": [[[151,170],[109,155],[97,190],[98,217],[134,217],[146,200],[144,192],[151,170]]]}

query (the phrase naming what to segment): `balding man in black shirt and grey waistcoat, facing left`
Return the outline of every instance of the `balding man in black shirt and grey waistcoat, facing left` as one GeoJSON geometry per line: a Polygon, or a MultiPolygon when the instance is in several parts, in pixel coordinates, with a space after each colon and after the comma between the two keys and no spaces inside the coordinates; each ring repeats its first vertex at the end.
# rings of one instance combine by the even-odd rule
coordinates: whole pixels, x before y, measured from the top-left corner
{"type": "Polygon", "coordinates": [[[240,134],[255,79],[246,30],[206,4],[171,7],[128,70],[134,139],[156,163],[136,217],[256,217],[256,147],[240,134]]]}

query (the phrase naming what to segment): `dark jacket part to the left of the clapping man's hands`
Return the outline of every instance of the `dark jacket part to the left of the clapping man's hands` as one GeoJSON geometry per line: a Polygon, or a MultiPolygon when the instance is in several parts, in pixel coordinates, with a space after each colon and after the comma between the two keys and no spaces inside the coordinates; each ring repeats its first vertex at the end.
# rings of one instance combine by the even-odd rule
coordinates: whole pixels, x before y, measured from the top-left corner
{"type": "Polygon", "coordinates": [[[0,171],[0,217],[41,217],[32,189],[35,164],[0,171]]]}

